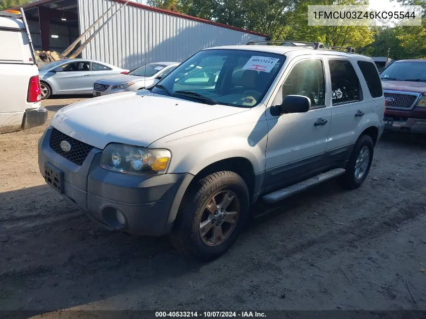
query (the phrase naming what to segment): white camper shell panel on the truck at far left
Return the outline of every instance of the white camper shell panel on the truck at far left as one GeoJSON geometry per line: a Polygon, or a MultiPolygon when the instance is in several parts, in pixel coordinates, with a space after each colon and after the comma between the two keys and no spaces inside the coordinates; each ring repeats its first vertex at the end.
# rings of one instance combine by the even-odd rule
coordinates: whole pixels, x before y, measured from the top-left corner
{"type": "Polygon", "coordinates": [[[0,39],[2,44],[7,43],[7,49],[0,50],[0,63],[33,63],[25,31],[0,29],[0,39]]]}

